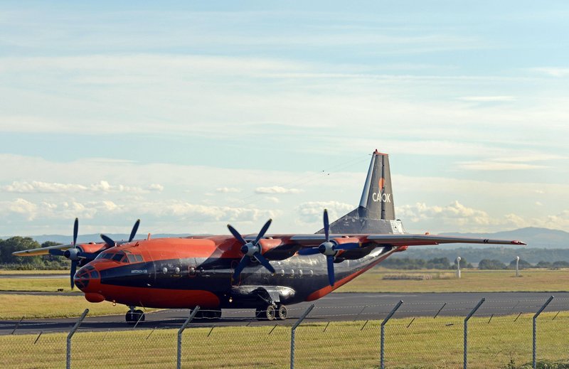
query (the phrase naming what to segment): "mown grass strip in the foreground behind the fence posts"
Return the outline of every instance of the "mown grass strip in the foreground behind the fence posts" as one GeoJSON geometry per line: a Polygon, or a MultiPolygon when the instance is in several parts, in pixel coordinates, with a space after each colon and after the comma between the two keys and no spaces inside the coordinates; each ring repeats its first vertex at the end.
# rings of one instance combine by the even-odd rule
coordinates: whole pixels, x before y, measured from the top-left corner
{"type": "MultiPolygon", "coordinates": [[[[538,321],[538,360],[567,360],[569,313],[538,321]]],[[[462,317],[392,319],[385,326],[386,368],[462,368],[462,317]]],[[[528,368],[531,315],[472,318],[469,368],[528,368]]],[[[289,368],[290,328],[188,328],[184,368],[289,368]],[[245,339],[246,338],[246,339],[245,339]]],[[[75,368],[173,368],[176,329],[81,332],[73,338],[75,368]]],[[[0,336],[0,365],[62,368],[65,333],[0,336]]],[[[297,368],[378,368],[380,322],[303,324],[296,333],[297,368]]],[[[551,367],[549,367],[551,368],[551,367]]],[[[555,367],[553,367],[555,368],[555,367]]]]}

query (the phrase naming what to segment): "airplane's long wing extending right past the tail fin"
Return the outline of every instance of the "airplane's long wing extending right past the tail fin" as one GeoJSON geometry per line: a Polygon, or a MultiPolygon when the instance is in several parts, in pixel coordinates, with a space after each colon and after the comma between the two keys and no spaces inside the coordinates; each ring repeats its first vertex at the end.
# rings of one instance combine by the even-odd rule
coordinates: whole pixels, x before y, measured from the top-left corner
{"type": "MultiPolygon", "coordinates": [[[[342,238],[346,235],[330,235],[331,239],[342,238]]],[[[420,246],[420,245],[440,245],[443,243],[473,243],[491,245],[526,245],[517,240],[491,240],[487,238],[456,237],[440,235],[413,235],[410,233],[400,234],[381,234],[381,235],[349,235],[360,239],[360,242],[374,242],[383,245],[393,246],[420,246]]],[[[325,236],[316,235],[294,235],[291,241],[297,242],[302,246],[310,247],[325,241],[325,236]]]]}

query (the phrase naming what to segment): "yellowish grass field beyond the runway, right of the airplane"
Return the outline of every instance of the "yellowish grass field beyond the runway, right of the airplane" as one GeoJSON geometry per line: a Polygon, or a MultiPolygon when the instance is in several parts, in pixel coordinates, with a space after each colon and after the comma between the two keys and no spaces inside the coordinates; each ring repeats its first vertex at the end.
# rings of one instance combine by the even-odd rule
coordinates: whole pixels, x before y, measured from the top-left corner
{"type": "Polygon", "coordinates": [[[565,292],[569,269],[527,269],[516,277],[513,270],[464,269],[462,278],[452,271],[393,270],[374,268],[336,290],[337,292],[565,292]],[[432,279],[385,280],[385,274],[430,274],[432,279]],[[442,279],[439,276],[442,274],[442,279]]]}

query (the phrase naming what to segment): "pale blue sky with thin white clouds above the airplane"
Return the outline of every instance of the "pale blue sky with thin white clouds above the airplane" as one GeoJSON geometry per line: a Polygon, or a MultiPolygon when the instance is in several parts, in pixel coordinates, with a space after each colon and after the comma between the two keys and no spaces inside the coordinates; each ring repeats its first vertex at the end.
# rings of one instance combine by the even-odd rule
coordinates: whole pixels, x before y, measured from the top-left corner
{"type": "Polygon", "coordinates": [[[569,231],[566,1],[2,1],[0,235],[569,231]]]}

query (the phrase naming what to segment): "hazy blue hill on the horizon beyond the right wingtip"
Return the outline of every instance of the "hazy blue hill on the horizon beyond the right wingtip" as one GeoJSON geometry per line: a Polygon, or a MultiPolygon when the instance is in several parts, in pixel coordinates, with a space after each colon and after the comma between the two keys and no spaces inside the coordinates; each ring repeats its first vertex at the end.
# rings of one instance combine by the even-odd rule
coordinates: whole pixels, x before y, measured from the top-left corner
{"type": "MultiPolygon", "coordinates": [[[[569,232],[563,230],[550,230],[548,228],[527,227],[517,230],[507,230],[495,233],[442,233],[462,237],[498,238],[504,240],[520,240],[531,248],[565,249],[569,248],[569,232]]],[[[445,248],[464,247],[465,244],[446,245],[445,248]]],[[[468,245],[474,247],[474,245],[468,245]]],[[[479,247],[488,247],[480,245],[479,247]]]]}

